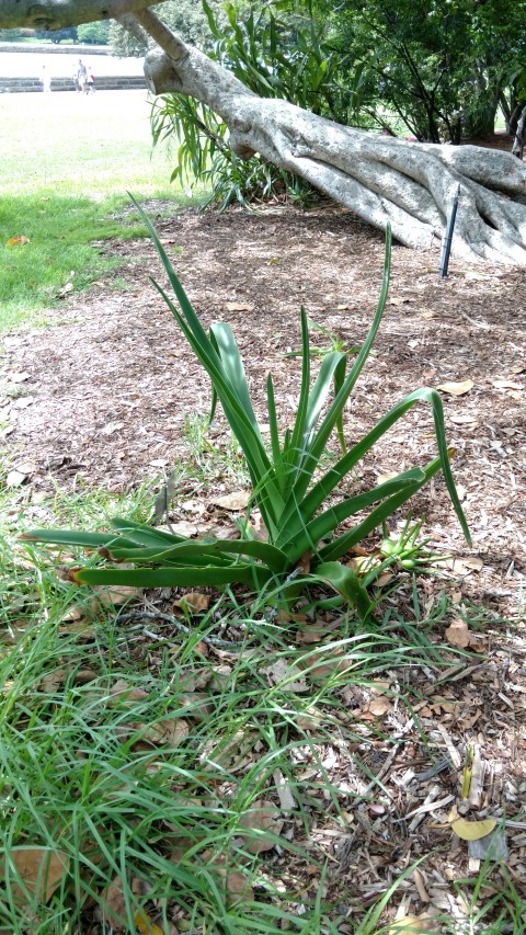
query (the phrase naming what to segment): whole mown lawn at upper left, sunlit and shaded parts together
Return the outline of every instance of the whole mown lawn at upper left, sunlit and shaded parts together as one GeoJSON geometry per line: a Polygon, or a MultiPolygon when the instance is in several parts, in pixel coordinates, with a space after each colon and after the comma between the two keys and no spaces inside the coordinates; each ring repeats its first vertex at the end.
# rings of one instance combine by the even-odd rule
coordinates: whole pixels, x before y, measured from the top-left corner
{"type": "Polygon", "coordinates": [[[188,203],[151,150],[149,111],[141,91],[0,98],[0,332],[45,324],[45,309],[118,265],[93,241],[146,235],[133,215],[115,219],[127,191],[188,203]]]}

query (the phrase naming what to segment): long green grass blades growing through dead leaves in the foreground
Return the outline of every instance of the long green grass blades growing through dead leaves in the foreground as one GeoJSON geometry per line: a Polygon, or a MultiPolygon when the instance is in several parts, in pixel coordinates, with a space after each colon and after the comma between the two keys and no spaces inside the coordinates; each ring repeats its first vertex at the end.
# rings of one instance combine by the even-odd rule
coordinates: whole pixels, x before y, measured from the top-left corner
{"type": "MultiPolygon", "coordinates": [[[[206,434],[188,420],[175,498],[220,477],[242,481],[235,446],[206,434]]],[[[446,664],[428,634],[448,614],[447,601],[423,615],[414,592],[413,624],[391,611],[368,632],[343,614],[330,641],[315,646],[297,640],[301,623],[270,611],[270,593],[251,605],[228,589],[211,594],[199,614],[179,618],[186,631],[170,619],[125,618],[133,603],[94,603],[92,590],[68,581],[75,551],[36,550],[16,535],[35,522],[87,529],[107,527],[115,514],[147,522],[155,486],[119,497],[77,482],[33,502],[31,488],[8,490],[1,480],[0,927],[72,935],[98,917],[130,933],[345,931],[324,894],[333,858],[311,836],[325,824],[348,834],[356,806],[348,771],[371,779],[342,691],[374,688],[386,671],[403,677],[416,660],[446,664]],[[213,650],[204,641],[218,634],[241,646],[213,650]],[[276,677],[265,671],[273,666],[276,677]],[[324,751],[336,748],[347,757],[343,774],[324,764],[324,751]],[[277,800],[278,782],[297,808],[274,833],[253,809],[277,800]],[[281,856],[268,860],[259,850],[273,844],[281,856]]],[[[390,742],[381,726],[371,730],[390,742]]],[[[365,802],[378,796],[381,782],[365,802]]],[[[354,935],[395,931],[392,905],[411,873],[400,867],[385,896],[353,914],[354,935]]],[[[513,880],[492,887],[488,867],[458,881],[468,920],[481,935],[519,935],[513,880]]],[[[439,923],[456,931],[453,921],[439,923]]]]}

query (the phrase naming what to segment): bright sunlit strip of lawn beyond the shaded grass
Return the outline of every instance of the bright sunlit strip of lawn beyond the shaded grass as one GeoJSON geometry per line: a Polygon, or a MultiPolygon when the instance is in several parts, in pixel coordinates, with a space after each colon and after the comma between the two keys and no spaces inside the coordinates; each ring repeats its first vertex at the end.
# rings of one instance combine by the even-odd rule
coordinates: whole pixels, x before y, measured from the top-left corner
{"type": "Polygon", "coordinates": [[[2,94],[0,196],[173,196],[165,152],[152,152],[149,113],[146,91],[2,94]]]}

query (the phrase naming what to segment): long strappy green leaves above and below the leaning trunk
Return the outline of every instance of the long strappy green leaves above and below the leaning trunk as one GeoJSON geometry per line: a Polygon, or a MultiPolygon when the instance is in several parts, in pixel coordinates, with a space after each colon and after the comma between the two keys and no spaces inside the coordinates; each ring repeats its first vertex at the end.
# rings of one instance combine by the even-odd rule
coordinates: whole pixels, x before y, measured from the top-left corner
{"type": "MultiPolygon", "coordinates": [[[[315,113],[338,118],[333,95],[333,54],[321,41],[315,20],[293,26],[270,8],[252,4],[243,15],[226,5],[228,24],[203,0],[214,45],[210,58],[228,68],[261,98],[282,98],[315,113]],[[259,10],[259,11],[258,11],[259,10]]],[[[153,104],[156,144],[179,141],[172,179],[193,175],[211,184],[210,201],[221,208],[235,201],[282,196],[308,199],[310,186],[260,157],[240,159],[230,148],[227,126],[209,107],[180,94],[165,94],[153,104]]]]}

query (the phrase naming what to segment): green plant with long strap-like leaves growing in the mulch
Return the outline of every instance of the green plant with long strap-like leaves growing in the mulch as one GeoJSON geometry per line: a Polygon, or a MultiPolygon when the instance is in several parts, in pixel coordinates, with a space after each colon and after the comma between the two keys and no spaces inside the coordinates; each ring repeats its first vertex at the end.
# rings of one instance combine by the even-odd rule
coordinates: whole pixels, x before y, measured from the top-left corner
{"type": "Polygon", "coordinates": [[[373,615],[374,604],[359,577],[339,559],[381,527],[438,470],[442,469],[449,497],[468,541],[464,515],[447,449],[442,400],[436,390],[415,390],[397,403],[357,444],[325,469],[328,443],[336,429],[345,403],[358,379],[378,331],[386,305],[391,255],[390,231],[386,238],[384,281],[376,315],[367,338],[346,374],[347,356],[333,351],[323,356],[319,374],[310,385],[310,345],[307,316],[301,309],[301,386],[293,429],[282,434],[278,427],[274,383],[267,378],[267,423],[270,445],[263,440],[249,395],[243,363],[232,331],[226,323],[210,327],[209,337],[194,311],[152,225],[148,224],[179,308],[165,290],[152,280],[171,309],[201,364],[211,380],[213,411],[217,401],[244,455],[267,540],[254,537],[251,525],[242,525],[241,538],[217,540],[188,539],[144,524],[114,520],[113,532],[95,534],[34,529],[24,539],[56,545],[99,549],[106,559],[104,568],[90,567],[72,572],[82,584],[134,584],[159,586],[225,586],[232,583],[260,591],[265,585],[282,589],[286,600],[295,597],[309,582],[329,584],[354,604],[361,618],[373,615]],[[328,402],[330,387],[338,377],[339,389],[328,402]],[[371,490],[327,502],[374,444],[413,406],[431,404],[435,422],[438,456],[424,467],[412,467],[371,490]],[[341,524],[359,514],[350,528],[341,524]],[[119,562],[132,562],[122,568],[119,562]]]}

